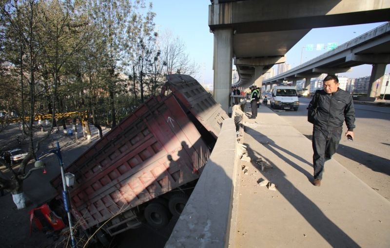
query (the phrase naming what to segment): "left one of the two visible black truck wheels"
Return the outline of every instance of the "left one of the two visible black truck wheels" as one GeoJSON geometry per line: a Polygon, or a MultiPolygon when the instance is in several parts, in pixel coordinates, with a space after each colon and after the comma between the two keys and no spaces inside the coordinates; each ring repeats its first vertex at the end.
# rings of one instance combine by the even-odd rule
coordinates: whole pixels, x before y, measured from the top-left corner
{"type": "Polygon", "coordinates": [[[170,214],[160,203],[151,203],[145,208],[144,216],[148,224],[156,229],[165,227],[169,223],[170,214]]]}

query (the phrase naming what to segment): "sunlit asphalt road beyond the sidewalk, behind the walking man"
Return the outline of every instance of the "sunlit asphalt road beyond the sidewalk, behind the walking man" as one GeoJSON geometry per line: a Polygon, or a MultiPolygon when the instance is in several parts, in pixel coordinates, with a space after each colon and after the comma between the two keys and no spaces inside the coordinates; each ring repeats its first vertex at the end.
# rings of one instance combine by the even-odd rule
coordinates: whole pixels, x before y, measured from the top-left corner
{"type": "MultiPolygon", "coordinates": [[[[274,112],[311,140],[312,124],[307,122],[306,109],[311,98],[299,99],[298,111],[274,112]]],[[[390,200],[390,107],[355,104],[355,112],[355,139],[351,142],[342,137],[333,159],[390,200]]],[[[345,124],[343,128],[345,133],[345,124]]]]}

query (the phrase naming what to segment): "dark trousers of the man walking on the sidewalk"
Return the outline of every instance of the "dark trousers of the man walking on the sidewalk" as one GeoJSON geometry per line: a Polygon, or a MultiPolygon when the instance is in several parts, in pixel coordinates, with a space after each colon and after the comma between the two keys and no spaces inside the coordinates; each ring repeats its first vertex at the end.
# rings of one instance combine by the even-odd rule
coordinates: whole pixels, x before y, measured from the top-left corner
{"type": "Polygon", "coordinates": [[[342,132],[342,126],[321,128],[314,125],[312,138],[314,179],[322,179],[324,163],[336,153],[342,132]]]}

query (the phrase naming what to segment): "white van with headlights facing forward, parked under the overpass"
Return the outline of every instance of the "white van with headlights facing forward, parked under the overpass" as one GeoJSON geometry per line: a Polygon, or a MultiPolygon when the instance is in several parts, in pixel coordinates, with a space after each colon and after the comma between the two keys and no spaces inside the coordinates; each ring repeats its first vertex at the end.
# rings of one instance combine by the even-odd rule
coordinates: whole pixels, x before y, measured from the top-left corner
{"type": "Polygon", "coordinates": [[[299,100],[293,86],[276,86],[272,89],[271,108],[298,110],[299,100]]]}

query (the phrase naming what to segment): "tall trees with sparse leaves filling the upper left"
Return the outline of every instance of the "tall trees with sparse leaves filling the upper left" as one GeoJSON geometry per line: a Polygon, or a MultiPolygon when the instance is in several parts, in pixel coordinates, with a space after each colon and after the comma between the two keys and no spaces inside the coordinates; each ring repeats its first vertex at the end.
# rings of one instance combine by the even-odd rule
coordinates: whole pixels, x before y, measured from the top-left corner
{"type": "Polygon", "coordinates": [[[8,0],[0,11],[4,111],[87,110],[115,125],[158,94],[166,74],[197,71],[178,38],[156,32],[144,0],[8,0]]]}

